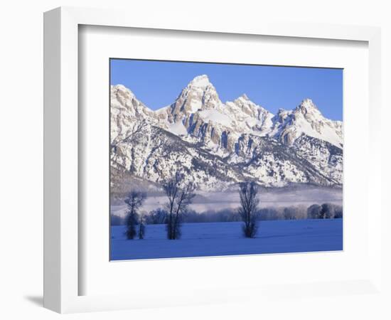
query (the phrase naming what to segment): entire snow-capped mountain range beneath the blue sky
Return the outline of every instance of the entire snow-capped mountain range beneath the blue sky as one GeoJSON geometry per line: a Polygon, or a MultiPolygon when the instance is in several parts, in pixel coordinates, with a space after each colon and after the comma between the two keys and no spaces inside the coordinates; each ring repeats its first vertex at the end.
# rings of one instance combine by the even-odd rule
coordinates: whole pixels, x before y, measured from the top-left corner
{"type": "Polygon", "coordinates": [[[223,103],[207,75],[150,110],[123,85],[111,88],[112,168],[156,183],[186,171],[200,189],[243,180],[263,186],[341,186],[342,122],[306,99],[277,114],[246,95],[223,103]]]}

